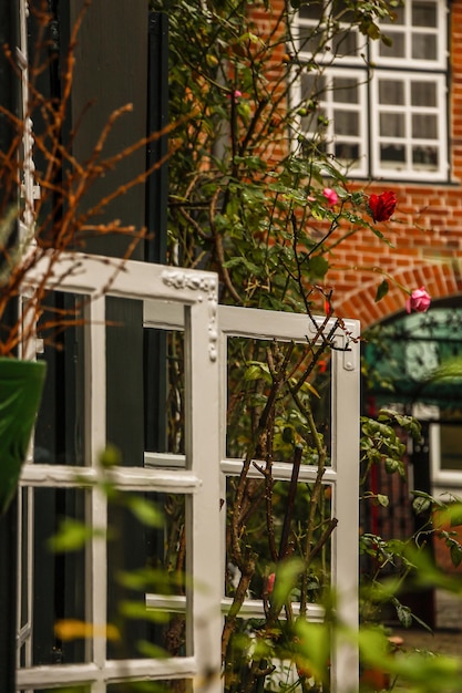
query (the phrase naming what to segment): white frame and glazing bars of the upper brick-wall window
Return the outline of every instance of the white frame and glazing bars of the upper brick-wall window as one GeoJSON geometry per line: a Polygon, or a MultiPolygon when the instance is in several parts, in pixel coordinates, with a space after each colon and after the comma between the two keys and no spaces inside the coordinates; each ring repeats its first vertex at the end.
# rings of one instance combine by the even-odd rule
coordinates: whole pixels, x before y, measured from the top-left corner
{"type": "MultiPolygon", "coordinates": [[[[422,0],[425,2],[425,0],[422,0]]],[[[365,62],[360,55],[357,58],[351,55],[340,55],[336,58],[331,53],[317,54],[317,60],[321,65],[321,73],[327,77],[332,74],[337,76],[341,72],[346,76],[351,74],[361,73],[360,83],[365,83],[365,94],[361,95],[361,104],[363,105],[363,113],[361,118],[361,155],[363,158],[359,158],[355,166],[345,166],[345,173],[352,177],[372,177],[377,179],[389,180],[415,180],[428,182],[438,180],[446,182],[450,173],[449,149],[448,149],[448,12],[449,8],[443,0],[427,0],[429,3],[437,6],[437,22],[438,25],[432,28],[427,27],[412,27],[410,19],[412,15],[412,2],[404,3],[404,21],[402,24],[396,24],[388,22],[382,25],[384,33],[387,29],[390,32],[401,33],[405,39],[407,58],[393,58],[382,56],[379,53],[380,46],[377,41],[370,41],[369,48],[366,46],[365,53],[369,54],[370,66],[365,62]],[[411,35],[415,33],[433,34],[438,41],[438,54],[435,60],[413,59],[410,55],[411,51],[411,35]],[[405,72],[403,71],[403,68],[405,72]],[[394,70],[394,72],[393,72],[394,70]],[[378,79],[392,77],[402,79],[409,83],[412,79],[415,81],[431,81],[437,85],[437,106],[414,106],[410,105],[410,101],[400,107],[401,112],[404,112],[407,118],[407,138],[403,141],[405,146],[405,162],[403,164],[383,165],[380,159],[380,142],[383,138],[380,137],[379,118],[380,112],[386,111],[383,106],[379,106],[378,102],[378,79]],[[437,139],[422,139],[412,137],[410,128],[410,118],[413,113],[435,113],[438,116],[438,138],[437,139]],[[424,168],[423,166],[412,164],[412,144],[422,144],[429,146],[437,146],[438,148],[438,167],[435,169],[424,168]]],[[[295,34],[304,27],[312,25],[314,22],[309,20],[302,20],[295,14],[295,34]]],[[[310,58],[310,53],[307,51],[300,52],[300,59],[310,58]]],[[[330,77],[329,77],[330,79],[330,77]]],[[[300,85],[294,85],[292,104],[298,104],[301,101],[300,85]],[[297,101],[298,100],[298,101],[297,101]]],[[[335,121],[332,118],[332,112],[335,106],[343,108],[342,103],[333,102],[332,95],[329,94],[326,100],[322,97],[319,100],[320,106],[327,111],[327,117],[329,118],[329,125],[326,131],[326,144],[329,154],[333,154],[335,151],[335,121]],[[331,120],[332,118],[332,120],[331,120]]],[[[301,128],[301,120],[299,121],[299,128],[301,128]]],[[[309,131],[306,131],[309,136],[309,131]]],[[[341,136],[341,139],[348,138],[341,136]]],[[[399,141],[401,144],[401,139],[399,141]]],[[[341,161],[339,161],[341,165],[341,161]]]]}

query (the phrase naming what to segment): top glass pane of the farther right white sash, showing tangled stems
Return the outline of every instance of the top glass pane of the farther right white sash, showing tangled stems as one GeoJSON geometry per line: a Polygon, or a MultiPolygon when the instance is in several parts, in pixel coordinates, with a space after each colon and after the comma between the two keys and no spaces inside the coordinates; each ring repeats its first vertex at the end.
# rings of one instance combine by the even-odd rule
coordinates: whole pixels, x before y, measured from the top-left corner
{"type": "Polygon", "coordinates": [[[227,455],[290,463],[300,444],[304,463],[317,464],[320,436],[330,464],[330,390],[326,346],[229,338],[227,455]],[[279,385],[274,369],[284,369],[279,385]]]}

